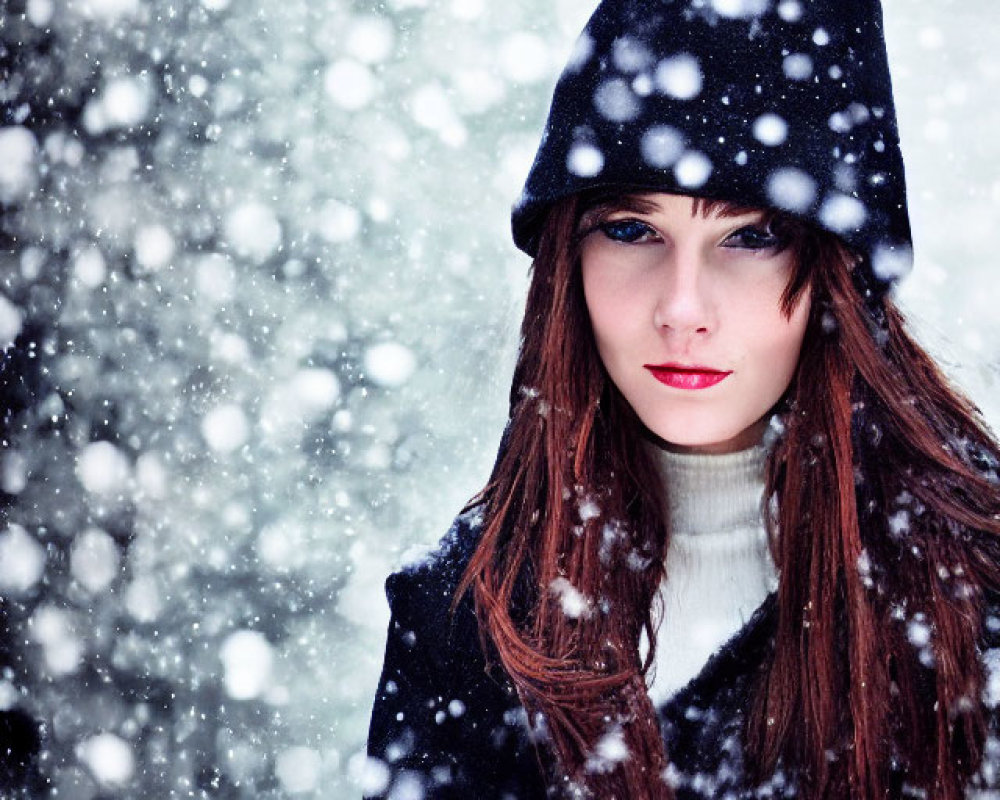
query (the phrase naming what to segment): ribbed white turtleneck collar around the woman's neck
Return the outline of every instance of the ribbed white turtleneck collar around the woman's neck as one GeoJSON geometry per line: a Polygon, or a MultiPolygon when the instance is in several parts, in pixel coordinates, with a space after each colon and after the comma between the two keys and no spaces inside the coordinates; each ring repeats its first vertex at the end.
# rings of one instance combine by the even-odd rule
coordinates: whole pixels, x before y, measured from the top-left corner
{"type": "Polygon", "coordinates": [[[650,447],[663,480],[672,535],[760,527],[764,446],[721,455],[650,447]]]}

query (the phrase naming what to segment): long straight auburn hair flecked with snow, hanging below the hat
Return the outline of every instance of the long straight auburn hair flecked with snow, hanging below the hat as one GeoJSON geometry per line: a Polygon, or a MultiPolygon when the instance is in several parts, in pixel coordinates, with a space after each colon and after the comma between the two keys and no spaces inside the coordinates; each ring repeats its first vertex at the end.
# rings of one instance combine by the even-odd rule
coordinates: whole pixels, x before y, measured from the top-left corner
{"type": "MultiPolygon", "coordinates": [[[[505,442],[469,503],[484,522],[455,602],[472,592],[550,785],[661,800],[669,754],[645,676],[670,532],[644,428],[594,344],[585,208],[562,201],[542,232],[505,442]]],[[[797,231],[782,303],[791,313],[810,291],[811,316],[766,466],[777,623],[744,762],[760,779],[792,768],[807,798],[895,796],[903,775],[958,800],[986,737],[976,655],[1000,588],[1000,451],[891,298],[863,296],[856,259],[797,231]]]]}

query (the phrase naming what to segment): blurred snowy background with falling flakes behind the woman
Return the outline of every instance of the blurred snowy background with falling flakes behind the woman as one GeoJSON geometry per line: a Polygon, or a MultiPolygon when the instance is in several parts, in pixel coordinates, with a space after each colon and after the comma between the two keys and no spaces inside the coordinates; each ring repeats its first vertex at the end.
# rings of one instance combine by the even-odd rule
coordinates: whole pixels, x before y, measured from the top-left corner
{"type": "MultiPolygon", "coordinates": [[[[593,6],[3,0],[0,744],[60,798],[377,783],[382,581],[488,475],[593,6]]],[[[886,17],[899,296],[996,426],[997,12],[886,17]]]]}

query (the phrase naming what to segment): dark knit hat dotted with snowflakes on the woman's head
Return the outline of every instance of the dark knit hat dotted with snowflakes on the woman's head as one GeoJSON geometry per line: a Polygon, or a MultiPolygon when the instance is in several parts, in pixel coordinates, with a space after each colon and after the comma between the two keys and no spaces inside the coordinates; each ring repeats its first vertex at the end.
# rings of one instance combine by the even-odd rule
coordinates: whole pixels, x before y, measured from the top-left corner
{"type": "Polygon", "coordinates": [[[552,98],[514,241],[627,186],[777,207],[840,236],[878,295],[912,264],[879,0],[604,0],[552,98]]]}

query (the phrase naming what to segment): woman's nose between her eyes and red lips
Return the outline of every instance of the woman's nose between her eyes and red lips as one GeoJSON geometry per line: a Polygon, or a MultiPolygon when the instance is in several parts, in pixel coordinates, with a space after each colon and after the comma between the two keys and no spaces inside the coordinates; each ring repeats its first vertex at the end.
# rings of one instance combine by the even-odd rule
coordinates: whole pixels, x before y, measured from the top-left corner
{"type": "Polygon", "coordinates": [[[653,324],[675,334],[709,333],[715,327],[709,284],[703,256],[696,249],[673,249],[662,264],[653,324]]]}

